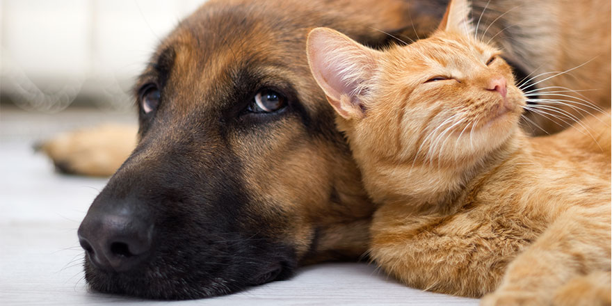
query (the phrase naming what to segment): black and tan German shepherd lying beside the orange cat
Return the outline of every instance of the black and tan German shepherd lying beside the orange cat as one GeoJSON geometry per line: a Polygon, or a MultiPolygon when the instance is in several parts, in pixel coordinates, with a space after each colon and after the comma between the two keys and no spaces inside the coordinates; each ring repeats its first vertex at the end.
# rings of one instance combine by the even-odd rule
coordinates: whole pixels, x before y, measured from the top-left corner
{"type": "MultiPolygon", "coordinates": [[[[375,207],[310,75],[307,33],[327,26],[383,48],[429,33],[446,2],[211,0],[184,19],[136,84],[136,149],[79,227],[90,287],[204,298],[362,256],[375,207]]],[[[474,15],[484,11],[485,35],[497,34],[520,79],[551,47],[530,45],[542,31],[517,2],[541,9],[476,1],[474,15]]]]}

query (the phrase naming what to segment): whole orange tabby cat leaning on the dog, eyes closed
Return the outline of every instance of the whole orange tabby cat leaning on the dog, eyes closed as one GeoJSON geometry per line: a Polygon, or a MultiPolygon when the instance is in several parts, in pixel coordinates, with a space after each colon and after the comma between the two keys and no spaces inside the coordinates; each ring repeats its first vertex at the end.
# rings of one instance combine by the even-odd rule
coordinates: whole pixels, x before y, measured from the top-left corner
{"type": "Polygon", "coordinates": [[[483,305],[609,305],[609,114],[526,136],[525,97],[467,12],[451,1],[430,38],[386,51],[309,34],[312,73],[380,205],[371,258],[412,287],[490,293],[483,305]]]}

